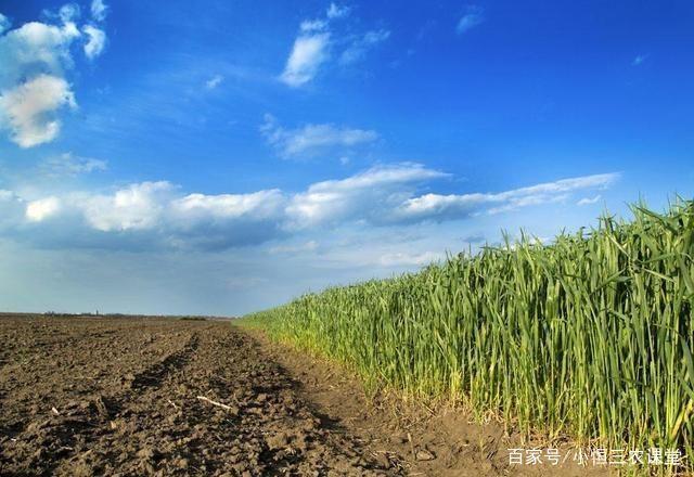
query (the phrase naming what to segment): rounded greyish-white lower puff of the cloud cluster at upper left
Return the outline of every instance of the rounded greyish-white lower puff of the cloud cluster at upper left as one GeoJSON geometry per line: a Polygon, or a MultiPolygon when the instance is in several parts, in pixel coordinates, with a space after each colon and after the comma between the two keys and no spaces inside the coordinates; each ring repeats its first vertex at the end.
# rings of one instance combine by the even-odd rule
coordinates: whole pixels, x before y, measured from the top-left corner
{"type": "Polygon", "coordinates": [[[11,139],[21,147],[50,142],[59,134],[61,123],[54,113],[63,106],[77,107],[65,79],[40,75],[0,96],[0,125],[10,129],[11,139]]]}

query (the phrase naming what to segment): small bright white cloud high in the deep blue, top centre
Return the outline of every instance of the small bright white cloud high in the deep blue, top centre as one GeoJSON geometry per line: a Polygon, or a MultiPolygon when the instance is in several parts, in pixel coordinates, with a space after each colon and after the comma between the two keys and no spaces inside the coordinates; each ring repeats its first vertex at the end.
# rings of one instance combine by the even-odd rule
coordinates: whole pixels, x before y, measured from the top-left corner
{"type": "Polygon", "coordinates": [[[292,53],[280,77],[291,87],[309,82],[329,57],[330,34],[301,35],[294,41],[292,53]]]}

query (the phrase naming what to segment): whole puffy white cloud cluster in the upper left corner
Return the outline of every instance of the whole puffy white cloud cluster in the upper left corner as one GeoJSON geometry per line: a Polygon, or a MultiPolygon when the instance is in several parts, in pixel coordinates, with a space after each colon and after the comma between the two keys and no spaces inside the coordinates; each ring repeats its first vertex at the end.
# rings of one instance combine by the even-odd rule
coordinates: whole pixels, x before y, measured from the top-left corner
{"type": "MultiPolygon", "coordinates": [[[[0,130],[21,147],[53,141],[61,129],[60,112],[77,107],[66,73],[74,67],[70,47],[82,37],[75,24],[79,7],[68,3],[46,16],[60,25],[29,22],[9,29],[0,17],[0,130]]],[[[98,56],[105,35],[89,25],[83,31],[85,53],[98,56]]]]}

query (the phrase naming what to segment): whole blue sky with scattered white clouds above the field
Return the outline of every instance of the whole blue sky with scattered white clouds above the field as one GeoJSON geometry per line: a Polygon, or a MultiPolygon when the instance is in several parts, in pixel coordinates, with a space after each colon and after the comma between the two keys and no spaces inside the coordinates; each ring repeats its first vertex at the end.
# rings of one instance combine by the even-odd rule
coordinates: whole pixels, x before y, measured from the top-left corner
{"type": "Polygon", "coordinates": [[[0,308],[241,314],[694,183],[694,5],[0,0],[0,308]]]}

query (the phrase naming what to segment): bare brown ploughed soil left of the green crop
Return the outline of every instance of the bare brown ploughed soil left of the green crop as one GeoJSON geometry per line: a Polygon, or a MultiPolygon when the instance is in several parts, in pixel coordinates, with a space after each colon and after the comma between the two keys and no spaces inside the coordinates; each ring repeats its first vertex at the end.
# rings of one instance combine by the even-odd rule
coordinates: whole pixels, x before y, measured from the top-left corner
{"type": "Polygon", "coordinates": [[[370,402],[228,322],[5,315],[0,344],[0,476],[606,474],[510,466],[501,426],[370,402]]]}

